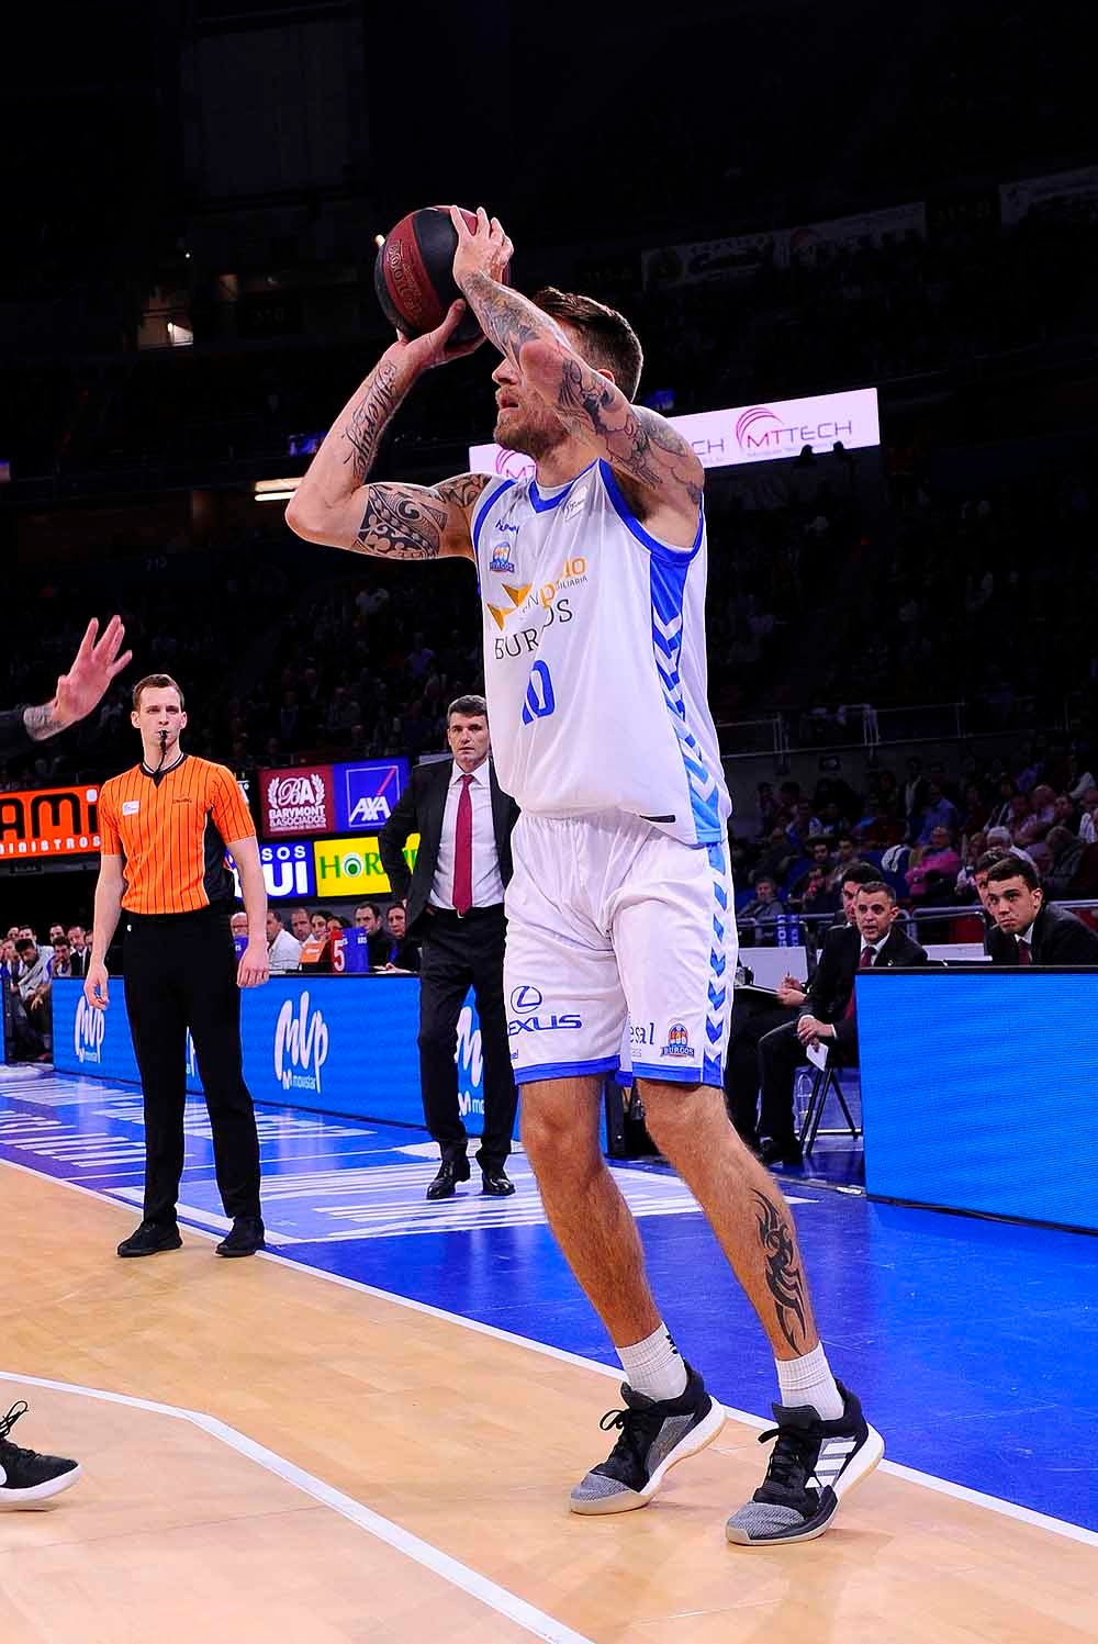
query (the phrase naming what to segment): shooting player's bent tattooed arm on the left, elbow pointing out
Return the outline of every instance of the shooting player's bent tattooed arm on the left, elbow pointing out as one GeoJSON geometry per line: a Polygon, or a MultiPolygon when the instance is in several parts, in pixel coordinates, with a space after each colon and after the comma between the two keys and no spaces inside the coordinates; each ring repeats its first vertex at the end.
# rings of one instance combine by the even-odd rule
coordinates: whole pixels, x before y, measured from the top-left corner
{"type": "Polygon", "coordinates": [[[473,557],[468,520],[488,485],[483,473],[460,473],[437,485],[367,483],[390,418],[424,372],[477,347],[450,349],[465,314],[455,302],[426,337],[399,337],[352,395],[301,480],[286,524],[307,543],[327,543],[381,559],[473,557]]]}

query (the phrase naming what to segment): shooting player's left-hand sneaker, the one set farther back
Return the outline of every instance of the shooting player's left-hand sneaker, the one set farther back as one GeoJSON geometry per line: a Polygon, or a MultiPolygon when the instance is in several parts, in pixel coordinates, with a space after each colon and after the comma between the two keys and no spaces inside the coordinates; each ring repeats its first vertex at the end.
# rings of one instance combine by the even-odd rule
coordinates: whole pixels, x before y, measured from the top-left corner
{"type": "Polygon", "coordinates": [[[603,1432],[621,1429],[605,1462],[592,1468],[572,1491],[572,1512],[631,1512],[653,1499],[664,1475],[712,1443],[725,1425],[725,1412],[710,1399],[695,1369],[685,1366],[685,1392],[677,1399],[649,1399],[621,1383],[623,1411],[607,1411],[603,1432]]]}

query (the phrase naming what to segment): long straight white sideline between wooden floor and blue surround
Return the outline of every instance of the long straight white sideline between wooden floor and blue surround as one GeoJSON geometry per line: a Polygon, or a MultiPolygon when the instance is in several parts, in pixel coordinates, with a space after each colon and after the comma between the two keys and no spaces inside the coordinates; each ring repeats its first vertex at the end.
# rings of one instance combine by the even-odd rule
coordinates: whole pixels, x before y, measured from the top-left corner
{"type": "MultiPolygon", "coordinates": [[[[0,1157],[0,1166],[8,1171],[21,1171],[25,1175],[38,1175],[44,1182],[56,1182],[59,1187],[71,1187],[77,1194],[84,1194],[87,1198],[95,1198],[99,1203],[118,1205],[125,1208],[118,1198],[112,1198],[108,1194],[97,1192],[90,1187],[81,1187],[79,1182],[66,1182],[58,1175],[49,1175],[48,1171],[35,1171],[28,1164],[13,1164],[10,1159],[0,1157]]],[[[189,1228],[189,1231],[197,1233],[199,1238],[215,1238],[214,1233],[205,1233],[202,1228],[189,1228]]],[[[465,1318],[462,1314],[450,1314],[444,1307],[432,1307],[431,1302],[418,1302],[411,1295],[398,1295],[393,1291],[381,1291],[373,1284],[363,1284],[362,1279],[345,1279],[342,1272],[327,1272],[324,1268],[312,1268],[306,1261],[296,1261],[293,1256],[276,1256],[273,1251],[258,1251],[260,1261],[273,1261],[283,1268],[293,1268],[294,1272],[306,1272],[316,1279],[324,1279],[327,1284],[340,1284],[347,1291],[362,1291],[365,1295],[375,1295],[378,1300],[393,1302],[396,1307],[408,1307],[414,1314],[426,1314],[429,1318],[441,1318],[444,1323],[460,1325],[462,1330],[473,1330],[478,1335],[495,1337],[496,1342],[506,1342],[510,1346],[524,1346],[531,1353],[541,1353],[544,1358],[556,1358],[564,1365],[575,1365],[579,1369],[595,1369],[600,1376],[610,1376],[613,1381],[621,1379],[621,1369],[613,1365],[600,1365],[598,1360],[584,1358],[580,1353],[569,1353],[565,1348],[549,1346],[547,1342],[534,1342],[529,1337],[514,1335],[511,1330],[501,1330],[498,1325],[485,1325],[480,1318],[465,1318]]],[[[751,1411],[738,1411],[731,1404],[725,1404],[725,1412],[733,1422],[743,1422],[745,1427],[754,1427],[759,1432],[764,1427],[773,1427],[773,1420],[764,1420],[761,1415],[753,1415],[751,1411]]],[[[212,1417],[210,1417],[212,1419],[212,1417]]],[[[288,1463],[289,1465],[289,1463],[288,1463]]],[[[1016,1501],[1006,1501],[1003,1496],[988,1496],[981,1489],[970,1489],[968,1485],[955,1485],[948,1478],[937,1478],[934,1473],[920,1473],[914,1466],[904,1466],[901,1462],[881,1462],[881,1471],[891,1473],[894,1478],[902,1478],[909,1485],[920,1485],[924,1489],[934,1489],[940,1496],[952,1496],[955,1501],[968,1501],[975,1508],[985,1508],[988,1512],[998,1512],[1001,1517],[1016,1519],[1019,1524],[1032,1524],[1036,1529],[1049,1531],[1054,1535],[1063,1535],[1067,1540],[1083,1542],[1086,1547],[1098,1547],[1098,1531],[1086,1529],[1083,1524],[1072,1524],[1068,1519],[1055,1519],[1047,1512],[1037,1512],[1036,1508],[1022,1508],[1016,1501]]]]}

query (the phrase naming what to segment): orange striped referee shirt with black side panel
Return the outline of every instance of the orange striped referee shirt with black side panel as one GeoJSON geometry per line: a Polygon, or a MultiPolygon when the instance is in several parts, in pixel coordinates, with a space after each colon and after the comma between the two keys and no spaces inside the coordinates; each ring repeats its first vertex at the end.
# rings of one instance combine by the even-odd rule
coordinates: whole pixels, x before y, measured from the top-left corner
{"type": "Polygon", "coordinates": [[[233,899],[225,845],[255,824],[224,764],[192,753],[161,776],[143,764],[99,789],[104,857],[122,857],[122,906],[131,914],[189,914],[233,899]]]}

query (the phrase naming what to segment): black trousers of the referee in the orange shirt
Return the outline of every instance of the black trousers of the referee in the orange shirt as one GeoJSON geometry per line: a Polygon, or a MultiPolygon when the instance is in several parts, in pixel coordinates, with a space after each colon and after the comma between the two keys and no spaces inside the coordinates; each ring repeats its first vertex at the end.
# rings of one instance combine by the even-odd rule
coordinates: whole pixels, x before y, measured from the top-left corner
{"type": "Polygon", "coordinates": [[[187,1028],[214,1133],[227,1217],[260,1215],[260,1138],[240,1057],[240,990],[228,914],[122,916],[127,1014],[145,1095],[145,1220],[176,1220],[187,1028]]]}

